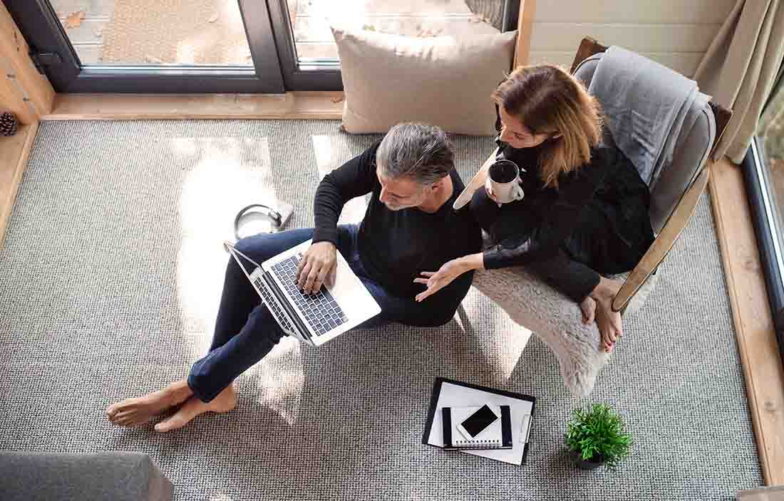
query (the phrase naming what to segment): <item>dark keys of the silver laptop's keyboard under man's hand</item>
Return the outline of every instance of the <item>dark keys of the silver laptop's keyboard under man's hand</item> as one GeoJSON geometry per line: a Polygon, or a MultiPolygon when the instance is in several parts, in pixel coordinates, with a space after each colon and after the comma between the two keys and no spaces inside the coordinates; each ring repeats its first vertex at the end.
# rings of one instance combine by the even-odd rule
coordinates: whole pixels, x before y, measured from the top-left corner
{"type": "MultiPolygon", "coordinates": [[[[302,258],[302,254],[299,254],[299,258],[302,258]]],[[[346,314],[326,287],[321,287],[316,294],[304,294],[296,287],[297,265],[299,259],[292,256],[274,265],[272,271],[281,279],[286,294],[289,294],[296,308],[303,313],[310,329],[318,336],[346,323],[346,314]]]]}

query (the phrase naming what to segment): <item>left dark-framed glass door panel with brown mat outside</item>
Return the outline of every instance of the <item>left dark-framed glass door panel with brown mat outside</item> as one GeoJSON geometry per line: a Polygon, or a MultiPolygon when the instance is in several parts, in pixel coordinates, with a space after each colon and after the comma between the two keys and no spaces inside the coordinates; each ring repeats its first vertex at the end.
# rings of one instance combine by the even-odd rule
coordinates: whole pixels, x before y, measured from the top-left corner
{"type": "Polygon", "coordinates": [[[285,92],[263,0],[4,0],[58,92],[285,92]]]}

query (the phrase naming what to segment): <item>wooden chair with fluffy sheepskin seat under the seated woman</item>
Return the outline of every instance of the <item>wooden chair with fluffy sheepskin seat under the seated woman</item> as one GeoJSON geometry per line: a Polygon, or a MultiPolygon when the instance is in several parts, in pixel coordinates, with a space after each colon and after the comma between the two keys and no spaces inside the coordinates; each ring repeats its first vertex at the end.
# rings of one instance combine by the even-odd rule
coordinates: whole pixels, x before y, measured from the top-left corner
{"type": "MultiPolygon", "coordinates": [[[[572,64],[572,73],[586,86],[606,48],[584,38],[572,64]]],[[[652,247],[626,276],[613,301],[615,311],[639,308],[653,287],[655,270],[670,252],[694,214],[708,182],[705,168],[726,127],[731,111],[715,103],[700,110],[694,126],[681,131],[673,162],[659,175],[652,189],[651,218],[657,233],[652,247]],[[633,306],[633,308],[630,308],[633,306]]],[[[516,323],[535,333],[556,355],[564,384],[577,396],[593,390],[596,377],[609,356],[601,348],[595,324],[582,323],[579,305],[547,286],[524,267],[479,272],[474,287],[499,304],[516,323]]]]}

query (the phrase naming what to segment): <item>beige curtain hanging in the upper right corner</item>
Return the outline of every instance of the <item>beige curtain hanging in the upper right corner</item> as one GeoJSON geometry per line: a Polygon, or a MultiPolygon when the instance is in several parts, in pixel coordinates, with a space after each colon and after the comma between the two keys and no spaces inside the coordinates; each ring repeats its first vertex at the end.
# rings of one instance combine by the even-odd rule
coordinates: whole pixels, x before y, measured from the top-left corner
{"type": "Polygon", "coordinates": [[[782,58],[784,1],[738,0],[695,73],[700,90],[732,110],[716,160],[743,160],[782,58]]]}

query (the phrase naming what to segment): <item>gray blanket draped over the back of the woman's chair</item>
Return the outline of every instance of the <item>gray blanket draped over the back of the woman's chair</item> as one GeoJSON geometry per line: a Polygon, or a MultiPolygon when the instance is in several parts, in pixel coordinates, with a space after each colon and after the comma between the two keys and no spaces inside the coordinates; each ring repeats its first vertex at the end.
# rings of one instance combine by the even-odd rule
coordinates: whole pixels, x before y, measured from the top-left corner
{"type": "Polygon", "coordinates": [[[697,82],[615,45],[604,52],[588,92],[599,99],[612,139],[649,188],[672,160],[681,128],[691,128],[684,119],[692,103],[707,98],[697,82]]]}

